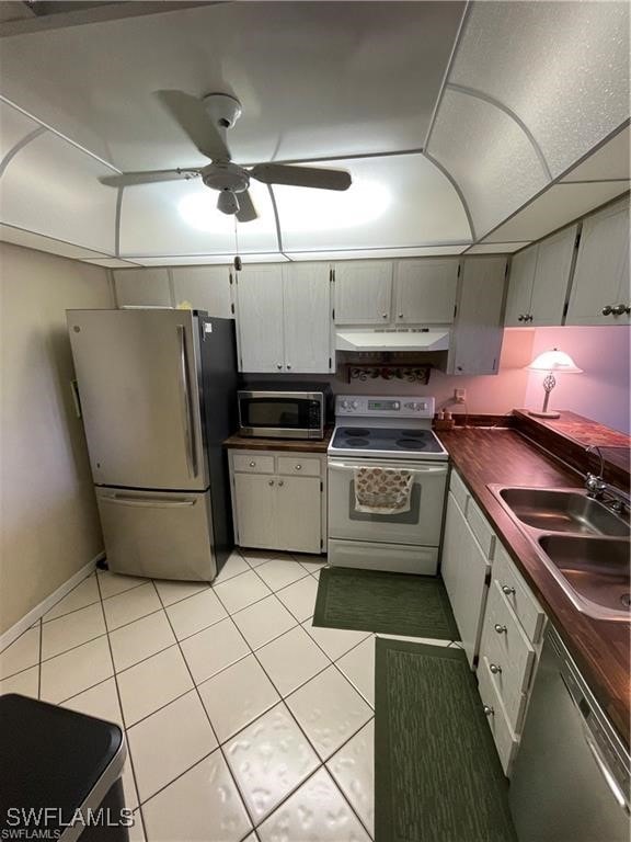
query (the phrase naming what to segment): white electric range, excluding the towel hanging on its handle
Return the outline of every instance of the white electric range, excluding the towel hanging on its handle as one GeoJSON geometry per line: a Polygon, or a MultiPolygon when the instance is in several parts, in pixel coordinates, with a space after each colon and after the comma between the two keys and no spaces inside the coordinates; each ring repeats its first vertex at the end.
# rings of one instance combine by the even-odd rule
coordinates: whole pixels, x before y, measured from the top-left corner
{"type": "Polygon", "coordinates": [[[330,565],[437,572],[449,457],[432,431],[434,406],[434,398],[336,397],[328,450],[330,565]],[[410,511],[357,511],[355,473],[363,467],[410,470],[410,511]]]}

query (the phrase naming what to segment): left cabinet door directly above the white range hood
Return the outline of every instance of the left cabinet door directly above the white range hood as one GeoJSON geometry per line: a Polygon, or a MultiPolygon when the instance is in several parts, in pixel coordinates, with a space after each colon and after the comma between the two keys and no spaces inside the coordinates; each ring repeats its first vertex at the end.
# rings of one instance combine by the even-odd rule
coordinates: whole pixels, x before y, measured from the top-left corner
{"type": "Polygon", "coordinates": [[[392,263],[382,260],[335,264],[335,322],[387,325],[392,300],[392,263]]]}

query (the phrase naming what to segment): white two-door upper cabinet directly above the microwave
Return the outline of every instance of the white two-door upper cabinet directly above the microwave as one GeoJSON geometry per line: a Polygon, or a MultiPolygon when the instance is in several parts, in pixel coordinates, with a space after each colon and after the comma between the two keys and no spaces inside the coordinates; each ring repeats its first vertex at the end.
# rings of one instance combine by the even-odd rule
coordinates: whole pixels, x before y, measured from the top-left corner
{"type": "Polygon", "coordinates": [[[241,372],[333,369],[328,263],[244,266],[234,288],[241,372]]]}

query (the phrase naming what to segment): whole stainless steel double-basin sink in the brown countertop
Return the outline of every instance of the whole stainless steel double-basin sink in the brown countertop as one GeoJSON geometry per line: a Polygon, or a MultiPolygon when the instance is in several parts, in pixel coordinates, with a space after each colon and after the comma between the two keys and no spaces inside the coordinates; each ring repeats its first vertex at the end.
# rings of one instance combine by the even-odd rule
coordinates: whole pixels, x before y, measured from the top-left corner
{"type": "Polygon", "coordinates": [[[576,488],[489,489],[580,611],[629,622],[631,531],[626,521],[576,488]]]}

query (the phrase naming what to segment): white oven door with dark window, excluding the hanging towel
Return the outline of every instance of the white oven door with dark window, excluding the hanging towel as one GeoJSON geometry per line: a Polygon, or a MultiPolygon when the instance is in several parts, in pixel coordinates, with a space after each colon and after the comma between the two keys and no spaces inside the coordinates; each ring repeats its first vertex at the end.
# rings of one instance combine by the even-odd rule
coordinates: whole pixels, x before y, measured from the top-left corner
{"type": "Polygon", "coordinates": [[[329,537],[437,547],[440,542],[447,463],[395,459],[329,460],[329,537]],[[399,468],[413,474],[411,508],[401,514],[355,509],[356,468],[399,468]]]}

